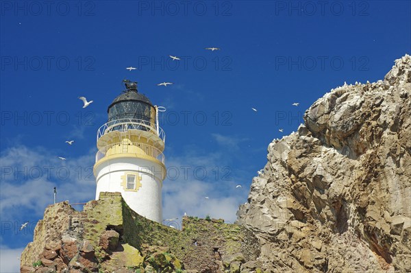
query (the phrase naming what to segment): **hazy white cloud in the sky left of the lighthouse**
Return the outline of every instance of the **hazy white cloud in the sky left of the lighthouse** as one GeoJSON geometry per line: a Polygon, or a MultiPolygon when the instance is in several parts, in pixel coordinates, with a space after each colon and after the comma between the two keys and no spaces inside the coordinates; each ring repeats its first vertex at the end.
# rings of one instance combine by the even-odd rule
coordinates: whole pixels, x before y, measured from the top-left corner
{"type": "Polygon", "coordinates": [[[53,203],[53,187],[58,201],[88,201],[95,195],[92,175],[93,150],[77,158],[61,161],[42,147],[10,147],[1,153],[0,213],[2,219],[23,221],[23,213],[42,217],[53,203]],[[73,190],[76,189],[76,190],[73,190]]]}

